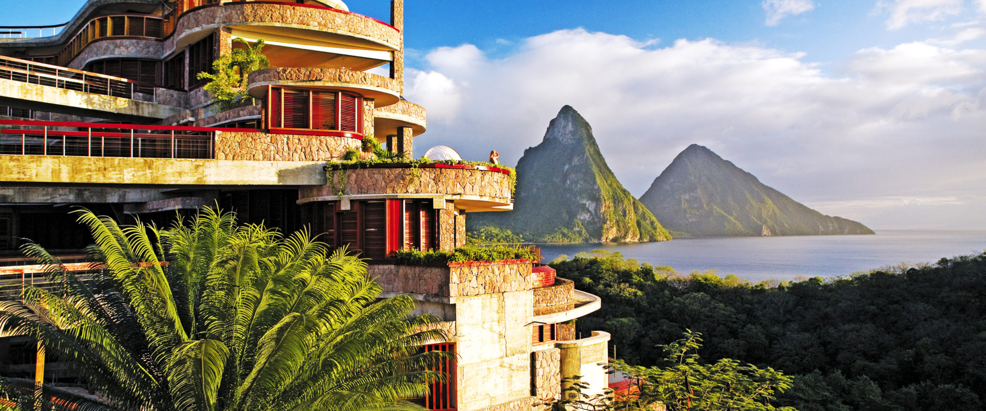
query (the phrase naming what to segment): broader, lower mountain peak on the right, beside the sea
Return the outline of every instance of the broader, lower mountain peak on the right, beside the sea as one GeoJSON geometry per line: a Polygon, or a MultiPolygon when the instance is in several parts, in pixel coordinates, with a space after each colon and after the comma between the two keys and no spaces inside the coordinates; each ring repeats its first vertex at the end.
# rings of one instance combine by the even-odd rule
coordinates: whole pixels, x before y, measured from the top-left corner
{"type": "Polygon", "coordinates": [[[675,236],[874,234],[808,208],[697,144],[678,154],[640,201],[675,236]]]}

